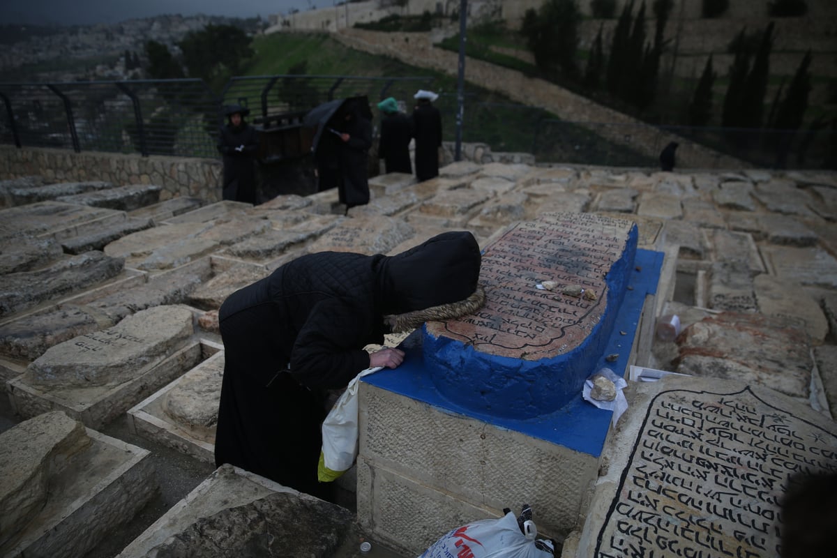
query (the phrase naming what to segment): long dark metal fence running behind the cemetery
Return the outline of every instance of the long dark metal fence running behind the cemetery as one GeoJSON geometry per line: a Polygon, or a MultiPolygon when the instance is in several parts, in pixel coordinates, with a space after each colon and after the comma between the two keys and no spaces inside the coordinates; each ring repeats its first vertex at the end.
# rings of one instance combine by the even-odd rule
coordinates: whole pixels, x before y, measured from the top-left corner
{"type": "MultiPolygon", "coordinates": [[[[230,79],[216,95],[201,79],[0,84],[0,143],[73,151],[139,153],[142,156],[217,157],[223,105],[238,103],[249,120],[271,136],[271,153],[301,156],[293,134],[306,113],[329,100],[366,95],[372,104],[393,96],[412,110],[413,94],[433,89],[427,77],[376,78],[339,75],[270,75],[230,79]],[[277,143],[277,141],[279,141],[277,143]]],[[[459,101],[440,95],[445,141],[454,141],[459,101]]],[[[375,115],[377,125],[379,114],[375,115]]],[[[765,168],[837,168],[837,131],[809,126],[799,131],[651,126],[558,120],[545,110],[491,103],[465,96],[462,141],[495,152],[531,153],[539,163],[657,166],[672,136],[707,153],[691,166],[722,168],[724,156],[765,168]],[[641,140],[640,140],[641,138],[641,140]]],[[[689,166],[680,164],[680,167],[689,166]]]]}

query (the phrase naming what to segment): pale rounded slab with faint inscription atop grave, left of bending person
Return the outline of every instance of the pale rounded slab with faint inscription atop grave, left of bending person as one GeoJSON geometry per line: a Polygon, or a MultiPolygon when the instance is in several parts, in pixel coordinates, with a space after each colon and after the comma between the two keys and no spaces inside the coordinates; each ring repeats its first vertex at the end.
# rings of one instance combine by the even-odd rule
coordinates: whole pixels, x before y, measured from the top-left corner
{"type": "Polygon", "coordinates": [[[193,332],[192,310],[156,306],[50,347],[28,366],[28,379],[40,387],[116,386],[177,351],[193,332]]]}

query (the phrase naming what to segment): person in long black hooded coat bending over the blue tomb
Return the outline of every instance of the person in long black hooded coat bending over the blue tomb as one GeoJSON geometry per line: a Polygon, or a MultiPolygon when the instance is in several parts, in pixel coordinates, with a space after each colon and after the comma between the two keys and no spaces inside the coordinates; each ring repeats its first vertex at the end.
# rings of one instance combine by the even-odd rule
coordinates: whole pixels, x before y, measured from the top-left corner
{"type": "Polygon", "coordinates": [[[478,310],[480,259],[471,233],[444,233],[392,257],[307,254],[231,294],[218,315],[225,361],[216,465],[328,499],[330,484],[317,481],[326,390],[403,361],[398,349],[363,350],[383,343],[394,316],[403,323],[415,311],[429,320],[478,310]]]}

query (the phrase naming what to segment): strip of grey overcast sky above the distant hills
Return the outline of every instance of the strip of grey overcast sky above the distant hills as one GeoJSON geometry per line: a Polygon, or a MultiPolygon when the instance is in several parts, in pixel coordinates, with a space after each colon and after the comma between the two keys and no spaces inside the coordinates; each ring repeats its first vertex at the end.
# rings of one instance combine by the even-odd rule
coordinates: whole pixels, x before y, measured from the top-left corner
{"type": "Polygon", "coordinates": [[[3,0],[0,23],[85,25],[163,13],[267,18],[272,13],[287,13],[291,8],[324,8],[333,3],[334,0],[3,0]]]}

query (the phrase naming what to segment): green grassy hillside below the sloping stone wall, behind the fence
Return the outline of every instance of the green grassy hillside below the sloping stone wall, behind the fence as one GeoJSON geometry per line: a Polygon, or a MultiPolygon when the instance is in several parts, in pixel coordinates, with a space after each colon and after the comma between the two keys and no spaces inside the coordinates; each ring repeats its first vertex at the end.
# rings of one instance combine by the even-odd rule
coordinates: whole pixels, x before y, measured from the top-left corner
{"type": "MultiPolygon", "coordinates": [[[[456,79],[434,70],[419,68],[386,56],[347,48],[326,33],[271,33],[254,38],[254,59],[246,69],[249,76],[285,75],[304,67],[308,76],[362,76],[369,78],[417,78],[429,82],[403,84],[390,93],[412,106],[414,90],[431,87],[439,93],[434,103],[443,115],[445,141],[456,139],[458,108],[456,79]],[[428,83],[428,85],[424,85],[428,83]]],[[[303,80],[300,76],[300,81],[303,80]]],[[[379,100],[370,93],[372,104],[379,100]]],[[[374,108],[374,107],[373,107],[374,108]]],[[[590,164],[634,166],[654,164],[647,157],[623,146],[603,141],[578,126],[557,122],[557,116],[534,107],[512,102],[504,95],[465,84],[462,141],[485,143],[496,152],[534,153],[539,161],[588,162],[590,164]],[[579,150],[579,146],[585,149],[579,150]],[[594,149],[589,149],[594,146],[594,149]],[[589,161],[579,161],[579,151],[589,161]]]]}

